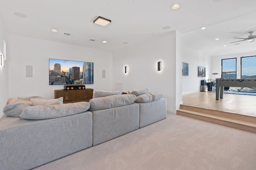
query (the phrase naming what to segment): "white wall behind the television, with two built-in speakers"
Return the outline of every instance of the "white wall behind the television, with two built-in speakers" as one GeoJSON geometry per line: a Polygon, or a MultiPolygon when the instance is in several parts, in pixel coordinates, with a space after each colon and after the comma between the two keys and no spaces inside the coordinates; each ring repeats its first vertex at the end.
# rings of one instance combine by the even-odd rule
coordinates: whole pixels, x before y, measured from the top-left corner
{"type": "Polygon", "coordinates": [[[86,88],[112,90],[112,52],[9,34],[9,98],[42,96],[54,98],[49,85],[49,58],[94,62],[94,84],[86,88]],[[33,77],[26,78],[26,65],[33,66],[33,77]],[[102,78],[106,70],[106,78],[102,78]]]}

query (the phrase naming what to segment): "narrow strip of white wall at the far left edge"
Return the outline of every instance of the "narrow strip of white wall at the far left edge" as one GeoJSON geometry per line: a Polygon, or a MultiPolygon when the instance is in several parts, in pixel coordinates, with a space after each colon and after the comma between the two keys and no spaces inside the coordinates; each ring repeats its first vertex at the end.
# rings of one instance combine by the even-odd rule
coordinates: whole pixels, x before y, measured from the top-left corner
{"type": "MultiPolygon", "coordinates": [[[[3,53],[3,40],[6,42],[6,50],[8,50],[8,33],[7,29],[0,19],[0,54],[3,53]]],[[[8,52],[6,52],[6,55],[8,55],[8,52]]],[[[4,114],[2,112],[3,107],[6,105],[6,101],[8,99],[8,56],[6,60],[4,61],[5,68],[2,68],[0,66],[0,117],[4,114]]]]}

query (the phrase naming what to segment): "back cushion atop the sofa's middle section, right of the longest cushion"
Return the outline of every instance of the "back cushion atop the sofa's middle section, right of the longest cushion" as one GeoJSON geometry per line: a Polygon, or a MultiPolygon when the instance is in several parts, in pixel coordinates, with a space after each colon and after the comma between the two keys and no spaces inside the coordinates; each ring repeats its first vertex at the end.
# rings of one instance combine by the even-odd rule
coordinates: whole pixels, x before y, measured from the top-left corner
{"type": "Polygon", "coordinates": [[[90,100],[90,110],[108,109],[112,107],[125,106],[134,103],[136,99],[132,94],[118,94],[90,100]]]}

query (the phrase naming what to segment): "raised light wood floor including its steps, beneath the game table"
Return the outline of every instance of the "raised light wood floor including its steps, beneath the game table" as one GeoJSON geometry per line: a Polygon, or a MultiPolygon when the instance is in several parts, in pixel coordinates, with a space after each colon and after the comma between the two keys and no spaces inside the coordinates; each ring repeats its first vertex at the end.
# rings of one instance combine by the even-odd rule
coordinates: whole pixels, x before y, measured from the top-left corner
{"type": "Polygon", "coordinates": [[[256,133],[256,96],[196,92],[182,96],[178,115],[256,133]]]}

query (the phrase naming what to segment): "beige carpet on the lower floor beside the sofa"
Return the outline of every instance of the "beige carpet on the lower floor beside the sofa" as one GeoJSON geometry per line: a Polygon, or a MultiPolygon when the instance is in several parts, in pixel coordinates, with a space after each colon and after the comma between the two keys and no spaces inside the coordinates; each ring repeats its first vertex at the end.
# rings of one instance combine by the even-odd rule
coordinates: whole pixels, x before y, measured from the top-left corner
{"type": "Polygon", "coordinates": [[[35,170],[256,170],[256,134],[167,114],[35,170]]]}

